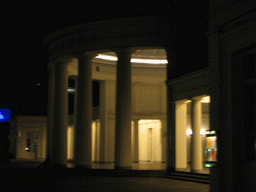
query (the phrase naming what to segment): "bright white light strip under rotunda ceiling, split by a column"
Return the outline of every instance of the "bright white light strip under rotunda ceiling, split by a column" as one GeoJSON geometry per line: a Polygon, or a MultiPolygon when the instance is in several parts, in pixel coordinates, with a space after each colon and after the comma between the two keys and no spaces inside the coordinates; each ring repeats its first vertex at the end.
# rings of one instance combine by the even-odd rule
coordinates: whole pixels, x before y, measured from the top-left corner
{"type": "MultiPolygon", "coordinates": [[[[105,59],[109,61],[117,61],[117,57],[101,55],[99,54],[95,58],[97,59],[105,59]]],[[[166,59],[131,59],[132,63],[147,63],[147,64],[167,64],[168,61],[166,59]]]]}

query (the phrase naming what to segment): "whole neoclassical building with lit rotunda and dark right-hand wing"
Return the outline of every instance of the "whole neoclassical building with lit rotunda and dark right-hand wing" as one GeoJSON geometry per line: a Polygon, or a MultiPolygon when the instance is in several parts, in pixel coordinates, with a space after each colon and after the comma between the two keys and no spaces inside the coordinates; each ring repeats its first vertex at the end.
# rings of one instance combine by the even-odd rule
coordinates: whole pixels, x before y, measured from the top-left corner
{"type": "Polygon", "coordinates": [[[40,158],[64,166],[129,170],[154,163],[167,174],[209,174],[210,191],[256,191],[256,2],[197,3],[208,10],[193,20],[197,27],[207,19],[205,65],[199,57],[183,60],[181,47],[197,37],[185,26],[193,15],[177,10],[195,6],[95,2],[57,12],[47,24],[47,120],[38,132],[17,128],[20,157],[36,157],[30,141],[41,135],[34,153],[40,148],[40,158]],[[97,108],[93,80],[100,85],[97,108]],[[67,90],[75,94],[70,116],[67,90]]]}

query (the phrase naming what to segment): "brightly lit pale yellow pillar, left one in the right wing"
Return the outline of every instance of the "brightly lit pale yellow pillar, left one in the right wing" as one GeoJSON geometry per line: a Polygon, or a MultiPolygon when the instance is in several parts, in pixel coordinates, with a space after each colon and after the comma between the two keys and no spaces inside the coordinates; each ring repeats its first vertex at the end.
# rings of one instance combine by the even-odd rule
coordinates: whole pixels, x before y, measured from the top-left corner
{"type": "Polygon", "coordinates": [[[187,168],[187,103],[175,102],[175,168],[187,168]]]}

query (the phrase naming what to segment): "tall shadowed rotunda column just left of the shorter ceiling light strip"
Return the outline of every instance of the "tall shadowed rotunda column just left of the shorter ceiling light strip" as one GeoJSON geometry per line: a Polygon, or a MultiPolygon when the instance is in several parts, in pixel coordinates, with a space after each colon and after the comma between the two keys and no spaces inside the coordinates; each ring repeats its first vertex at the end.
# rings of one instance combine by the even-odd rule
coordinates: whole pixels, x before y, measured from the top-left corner
{"type": "Polygon", "coordinates": [[[78,58],[77,113],[75,129],[76,167],[91,168],[92,126],[92,59],[95,55],[83,53],[78,58]]]}

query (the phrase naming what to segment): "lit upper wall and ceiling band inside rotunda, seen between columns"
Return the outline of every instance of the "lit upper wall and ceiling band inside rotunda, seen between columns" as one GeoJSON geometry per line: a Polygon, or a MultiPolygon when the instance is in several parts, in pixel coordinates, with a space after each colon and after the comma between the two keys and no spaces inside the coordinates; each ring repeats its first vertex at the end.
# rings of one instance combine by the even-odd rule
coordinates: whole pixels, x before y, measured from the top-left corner
{"type": "MultiPolygon", "coordinates": [[[[100,53],[105,56],[116,57],[114,52],[100,53]]],[[[143,49],[132,54],[132,59],[153,59],[166,60],[164,49],[143,49]]],[[[117,59],[117,58],[116,58],[117,59]]],[[[94,58],[93,79],[95,80],[115,80],[117,61],[94,58]],[[97,71],[97,67],[99,71],[97,71]]],[[[69,64],[69,75],[77,75],[77,59],[74,58],[69,64]]],[[[132,63],[132,81],[159,83],[166,80],[166,64],[144,64],[132,63]]]]}

